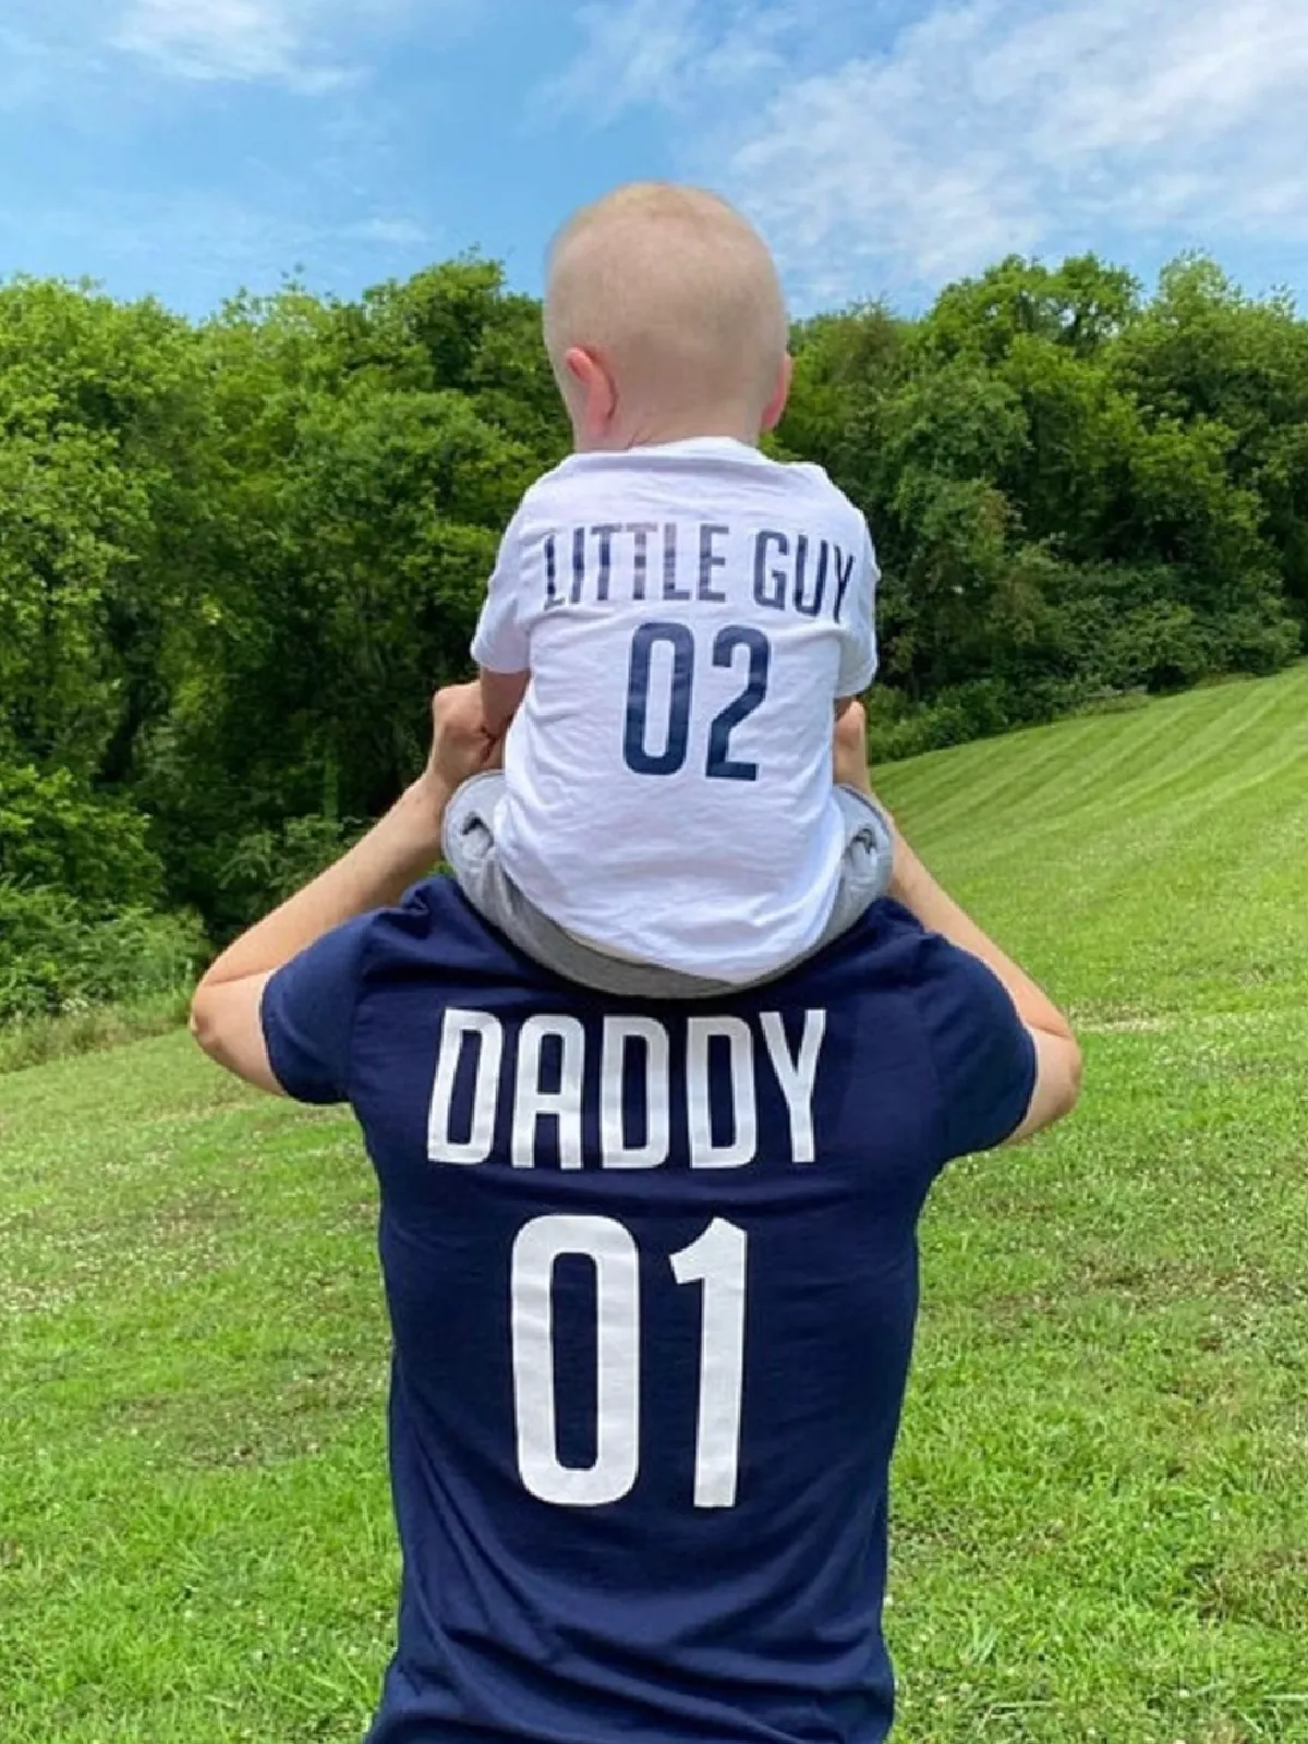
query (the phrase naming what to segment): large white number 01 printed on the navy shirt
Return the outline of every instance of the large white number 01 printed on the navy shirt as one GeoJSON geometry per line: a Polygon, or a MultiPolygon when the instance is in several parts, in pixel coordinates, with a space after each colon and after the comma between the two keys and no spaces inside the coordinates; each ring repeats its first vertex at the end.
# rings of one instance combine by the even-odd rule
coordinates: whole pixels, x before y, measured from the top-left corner
{"type": "MultiPolygon", "coordinates": [[[[703,1285],[699,1428],[694,1505],[729,1509],[739,1475],[748,1238],[717,1217],[671,1256],[678,1284],[703,1285]]],[[[640,1468],[640,1254],[612,1217],[537,1217],[513,1245],[513,1393],[518,1470],[541,1502],[593,1509],[621,1502],[640,1468]],[[558,1458],[555,1413],[555,1266],[579,1256],[595,1266],[596,1430],[589,1465],[558,1458]]]]}

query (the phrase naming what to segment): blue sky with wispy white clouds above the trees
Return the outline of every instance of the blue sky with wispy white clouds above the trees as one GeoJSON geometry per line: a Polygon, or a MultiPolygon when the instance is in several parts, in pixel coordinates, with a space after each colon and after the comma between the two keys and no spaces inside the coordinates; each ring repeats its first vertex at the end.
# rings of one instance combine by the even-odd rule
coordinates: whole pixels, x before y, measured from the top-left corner
{"type": "Polygon", "coordinates": [[[5,0],[0,276],[194,314],[469,248],[539,290],[633,176],[738,199],[799,312],[1010,251],[1308,300],[1308,0],[5,0]]]}

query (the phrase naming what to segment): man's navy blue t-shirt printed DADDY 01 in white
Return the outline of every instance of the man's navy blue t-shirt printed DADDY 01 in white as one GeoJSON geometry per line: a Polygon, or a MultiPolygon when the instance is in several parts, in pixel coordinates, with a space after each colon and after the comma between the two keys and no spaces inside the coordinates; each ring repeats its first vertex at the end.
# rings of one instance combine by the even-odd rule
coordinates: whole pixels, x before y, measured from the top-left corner
{"type": "Polygon", "coordinates": [[[886,1500],[940,1168],[1034,1050],[877,903],[713,1005],[558,980],[452,882],[269,984],[380,1182],[399,1641],[371,1744],[877,1744],[886,1500]]]}

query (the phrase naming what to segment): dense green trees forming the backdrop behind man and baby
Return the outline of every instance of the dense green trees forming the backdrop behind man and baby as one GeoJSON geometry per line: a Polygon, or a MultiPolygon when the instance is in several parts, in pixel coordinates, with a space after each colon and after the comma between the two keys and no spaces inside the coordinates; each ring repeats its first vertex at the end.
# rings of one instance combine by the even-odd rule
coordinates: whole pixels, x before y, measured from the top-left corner
{"type": "MultiPolygon", "coordinates": [[[[59,964],[101,933],[117,977],[173,973],[195,917],[225,935],[394,797],[565,452],[537,326],[478,260],[199,326],[0,286],[0,1018],[98,996],[59,964]]],[[[867,509],[886,572],[879,753],[1299,652],[1289,302],[1205,260],[1153,298],[1010,260],[797,356],[778,448],[867,509]]]]}

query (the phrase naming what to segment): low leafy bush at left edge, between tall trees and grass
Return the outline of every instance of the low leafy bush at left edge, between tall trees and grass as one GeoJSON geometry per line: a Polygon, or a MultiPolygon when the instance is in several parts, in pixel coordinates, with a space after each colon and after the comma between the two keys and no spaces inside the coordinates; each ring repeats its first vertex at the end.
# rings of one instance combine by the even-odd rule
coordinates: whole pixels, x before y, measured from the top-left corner
{"type": "Polygon", "coordinates": [[[0,1024],[173,994],[204,954],[192,914],[96,909],[0,881],[0,1024]]]}

